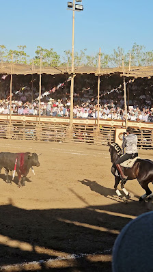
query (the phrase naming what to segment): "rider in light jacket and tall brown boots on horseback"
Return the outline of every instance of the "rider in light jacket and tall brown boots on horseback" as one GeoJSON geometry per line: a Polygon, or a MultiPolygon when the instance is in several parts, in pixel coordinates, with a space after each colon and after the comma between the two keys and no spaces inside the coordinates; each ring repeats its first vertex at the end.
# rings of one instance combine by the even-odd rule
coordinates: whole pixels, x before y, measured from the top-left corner
{"type": "MultiPolygon", "coordinates": [[[[125,134],[125,133],[124,133],[125,134]]],[[[124,175],[124,172],[122,171],[122,167],[120,163],[123,163],[124,161],[128,159],[134,159],[135,157],[138,157],[137,153],[137,135],[133,134],[133,128],[128,126],[126,129],[127,136],[124,138],[122,148],[126,147],[126,153],[117,159],[115,163],[113,164],[113,167],[120,172],[120,176],[123,181],[127,180],[127,176],[124,175]]]]}

